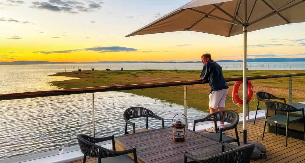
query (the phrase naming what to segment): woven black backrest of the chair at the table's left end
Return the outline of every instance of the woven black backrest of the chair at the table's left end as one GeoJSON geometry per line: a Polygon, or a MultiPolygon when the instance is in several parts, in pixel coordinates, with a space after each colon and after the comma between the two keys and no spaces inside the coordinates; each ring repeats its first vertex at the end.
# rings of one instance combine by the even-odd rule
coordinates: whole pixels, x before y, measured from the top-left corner
{"type": "Polygon", "coordinates": [[[94,144],[97,142],[97,139],[94,137],[79,134],[77,135],[77,140],[81,148],[81,152],[89,157],[106,158],[118,156],[111,150],[94,144]]]}

